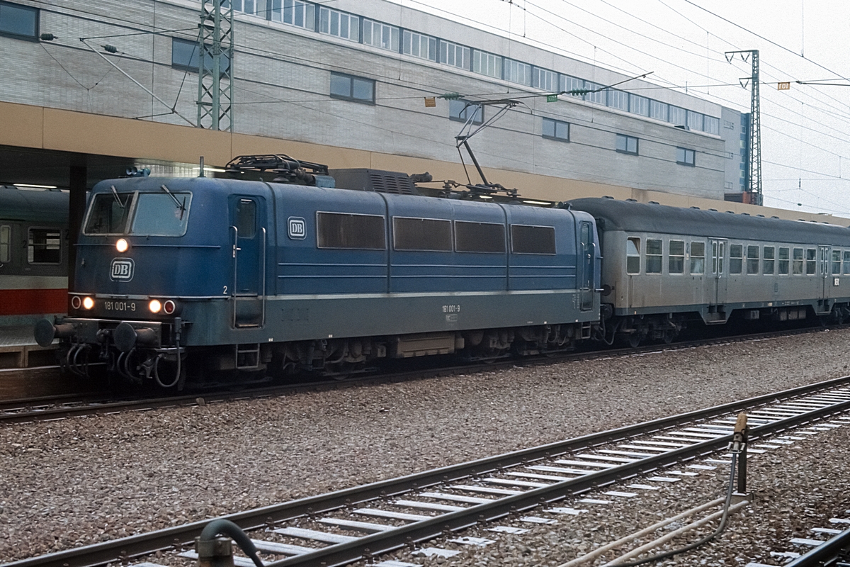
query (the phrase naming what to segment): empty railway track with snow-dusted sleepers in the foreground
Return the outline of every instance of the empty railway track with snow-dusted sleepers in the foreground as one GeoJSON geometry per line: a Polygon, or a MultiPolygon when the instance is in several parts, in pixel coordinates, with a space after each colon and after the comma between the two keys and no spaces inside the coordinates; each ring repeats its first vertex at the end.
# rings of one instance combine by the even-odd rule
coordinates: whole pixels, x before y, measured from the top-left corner
{"type": "MultiPolygon", "coordinates": [[[[559,513],[576,513],[567,506],[576,498],[592,502],[605,494],[622,495],[623,490],[649,490],[643,483],[677,482],[693,476],[694,470],[728,463],[721,451],[732,439],[740,411],[750,417],[751,453],[764,452],[758,446],[768,437],[779,446],[850,425],[850,377],[224,518],[248,531],[276,567],[350,564],[405,549],[450,553],[425,546],[442,536],[475,544],[475,538],[462,536],[464,530],[483,525],[495,533],[508,531],[509,526],[496,523],[510,519],[551,523],[559,513]],[[638,475],[649,478],[632,480],[638,475]],[[630,481],[632,485],[617,486],[630,481]]],[[[119,560],[126,564],[157,551],[167,554],[166,564],[179,564],[196,557],[191,546],[207,524],[184,524],[8,567],[88,567],[119,560]]],[[[238,567],[251,564],[244,557],[235,559],[238,567]]],[[[399,567],[405,562],[379,564],[399,567]]]]}

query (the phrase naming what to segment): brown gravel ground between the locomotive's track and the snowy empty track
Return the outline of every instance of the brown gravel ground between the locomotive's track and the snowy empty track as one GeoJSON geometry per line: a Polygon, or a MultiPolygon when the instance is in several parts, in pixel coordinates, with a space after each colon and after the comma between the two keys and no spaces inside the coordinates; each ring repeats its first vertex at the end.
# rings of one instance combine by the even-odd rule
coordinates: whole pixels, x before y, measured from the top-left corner
{"type": "MultiPolygon", "coordinates": [[[[848,339],[825,331],[0,428],[0,562],[843,376],[848,339]]],[[[644,523],[624,512],[621,524],[644,523]]]]}

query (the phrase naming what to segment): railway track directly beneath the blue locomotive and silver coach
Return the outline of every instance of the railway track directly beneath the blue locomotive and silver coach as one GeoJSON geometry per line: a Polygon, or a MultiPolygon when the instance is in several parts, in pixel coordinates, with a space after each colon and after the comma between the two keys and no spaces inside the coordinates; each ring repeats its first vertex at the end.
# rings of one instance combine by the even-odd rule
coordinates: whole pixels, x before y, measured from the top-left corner
{"type": "MultiPolygon", "coordinates": [[[[82,417],[88,415],[117,413],[121,411],[148,411],[168,407],[186,407],[192,405],[216,404],[229,400],[246,400],[265,397],[275,397],[295,394],[304,390],[326,390],[332,388],[350,388],[375,383],[391,383],[410,379],[425,379],[430,377],[449,376],[452,374],[471,373],[477,371],[494,371],[514,366],[535,366],[558,364],[570,360],[593,360],[613,358],[618,356],[640,356],[657,354],[684,349],[695,349],[709,345],[761,341],[774,337],[785,337],[810,332],[821,332],[822,329],[800,329],[784,332],[767,332],[756,335],[740,335],[734,337],[717,337],[699,339],[673,344],[652,344],[637,349],[606,349],[588,352],[571,352],[547,356],[526,357],[522,360],[501,359],[490,362],[456,364],[453,366],[433,366],[415,370],[391,371],[379,374],[360,375],[347,380],[321,379],[302,383],[287,383],[268,387],[218,389],[198,391],[192,394],[163,394],[154,396],[130,396],[127,394],[113,395],[84,395],[65,394],[47,397],[26,398],[19,400],[0,400],[0,424],[26,423],[82,417]]],[[[428,360],[434,363],[436,360],[428,360]]],[[[43,371],[43,369],[39,369],[43,371]]],[[[56,367],[59,371],[59,367],[56,367]]]]}

